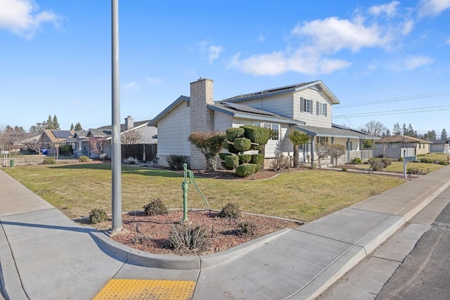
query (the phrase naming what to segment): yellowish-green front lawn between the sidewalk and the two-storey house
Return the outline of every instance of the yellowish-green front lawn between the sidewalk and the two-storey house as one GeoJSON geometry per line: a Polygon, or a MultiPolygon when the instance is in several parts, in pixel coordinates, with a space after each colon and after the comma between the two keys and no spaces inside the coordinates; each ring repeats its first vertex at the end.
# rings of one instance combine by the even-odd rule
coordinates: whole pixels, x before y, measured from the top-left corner
{"type": "MultiPolygon", "coordinates": [[[[34,165],[3,169],[72,219],[95,208],[111,211],[110,164],[34,165]]],[[[182,174],[160,169],[122,166],[122,209],[141,210],[160,198],[181,208],[182,174]]],[[[312,221],[404,183],[399,178],[350,172],[290,171],[265,181],[195,178],[212,209],[236,202],[244,212],[312,221]]],[[[190,184],[188,207],[205,208],[190,184]]]]}

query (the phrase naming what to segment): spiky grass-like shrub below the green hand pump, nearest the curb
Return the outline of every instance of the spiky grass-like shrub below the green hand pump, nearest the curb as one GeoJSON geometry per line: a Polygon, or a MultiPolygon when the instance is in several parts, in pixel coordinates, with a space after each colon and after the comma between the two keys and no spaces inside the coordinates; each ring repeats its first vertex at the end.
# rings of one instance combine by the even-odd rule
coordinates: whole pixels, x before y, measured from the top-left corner
{"type": "Polygon", "coordinates": [[[204,226],[191,227],[184,224],[176,224],[170,231],[166,247],[174,249],[179,254],[202,253],[210,249],[210,234],[204,226]]]}

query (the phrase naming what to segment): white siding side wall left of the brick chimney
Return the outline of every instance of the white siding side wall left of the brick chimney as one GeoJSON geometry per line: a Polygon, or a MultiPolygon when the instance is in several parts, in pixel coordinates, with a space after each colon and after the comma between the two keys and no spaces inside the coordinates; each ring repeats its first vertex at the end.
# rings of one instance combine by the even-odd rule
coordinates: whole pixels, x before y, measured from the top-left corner
{"type": "Polygon", "coordinates": [[[183,101],[158,122],[158,157],[171,154],[191,155],[189,134],[191,112],[186,101],[183,101]]]}

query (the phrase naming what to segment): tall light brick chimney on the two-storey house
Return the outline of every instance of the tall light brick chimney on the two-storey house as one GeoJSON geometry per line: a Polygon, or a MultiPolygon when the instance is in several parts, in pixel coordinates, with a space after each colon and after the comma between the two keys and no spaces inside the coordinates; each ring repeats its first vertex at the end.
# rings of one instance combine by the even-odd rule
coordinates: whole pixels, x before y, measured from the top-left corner
{"type": "MultiPolygon", "coordinates": [[[[212,79],[200,78],[191,82],[191,132],[214,131],[214,112],[207,105],[214,104],[212,79]]],[[[206,169],[205,156],[191,145],[191,169],[206,169]]]]}

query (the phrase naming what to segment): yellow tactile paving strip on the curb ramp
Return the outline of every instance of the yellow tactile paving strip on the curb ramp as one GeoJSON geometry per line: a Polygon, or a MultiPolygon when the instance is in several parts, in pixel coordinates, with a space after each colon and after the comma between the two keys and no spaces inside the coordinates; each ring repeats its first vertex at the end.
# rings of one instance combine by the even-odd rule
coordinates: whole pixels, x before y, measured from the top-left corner
{"type": "Polygon", "coordinates": [[[93,300],[192,299],[195,281],[111,279],[93,300]]]}

